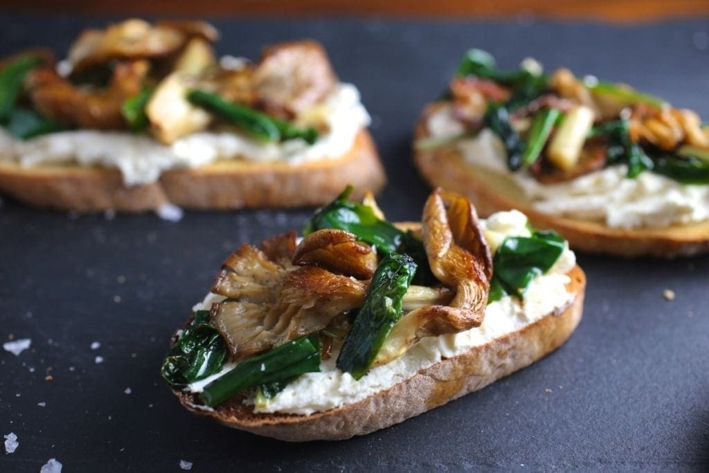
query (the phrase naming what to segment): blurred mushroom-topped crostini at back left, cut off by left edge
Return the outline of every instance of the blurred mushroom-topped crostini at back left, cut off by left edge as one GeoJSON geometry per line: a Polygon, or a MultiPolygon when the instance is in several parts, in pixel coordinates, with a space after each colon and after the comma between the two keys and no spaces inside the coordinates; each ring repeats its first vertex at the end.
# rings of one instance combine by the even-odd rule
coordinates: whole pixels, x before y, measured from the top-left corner
{"type": "Polygon", "coordinates": [[[359,91],[313,40],[217,57],[201,21],[85,30],[0,62],[0,192],[77,212],[321,205],[385,182],[359,91]]]}

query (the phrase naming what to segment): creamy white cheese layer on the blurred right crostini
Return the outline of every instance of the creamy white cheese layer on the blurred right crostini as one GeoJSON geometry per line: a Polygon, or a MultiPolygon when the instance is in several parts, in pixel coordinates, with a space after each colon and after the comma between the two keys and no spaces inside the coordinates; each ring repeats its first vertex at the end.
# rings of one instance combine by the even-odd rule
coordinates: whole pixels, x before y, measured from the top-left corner
{"type": "MultiPolygon", "coordinates": [[[[428,128],[438,138],[461,133],[450,107],[433,113],[428,128]]],[[[612,228],[663,228],[709,220],[709,186],[680,184],[654,172],[628,179],[625,165],[569,182],[540,184],[526,171],[508,170],[503,145],[487,128],[475,138],[460,140],[457,148],[471,165],[510,174],[532,206],[549,215],[601,221],[612,228]]]]}

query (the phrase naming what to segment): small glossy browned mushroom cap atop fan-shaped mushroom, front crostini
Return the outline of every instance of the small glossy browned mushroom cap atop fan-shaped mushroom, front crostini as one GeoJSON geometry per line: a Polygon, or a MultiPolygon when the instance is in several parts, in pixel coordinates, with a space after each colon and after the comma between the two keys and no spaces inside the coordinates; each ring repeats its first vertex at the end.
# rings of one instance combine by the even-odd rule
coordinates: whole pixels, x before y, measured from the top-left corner
{"type": "Polygon", "coordinates": [[[330,272],[370,279],[376,270],[376,254],[367,243],[345,230],[325,228],[303,238],[296,247],[293,264],[319,266],[330,272]]]}

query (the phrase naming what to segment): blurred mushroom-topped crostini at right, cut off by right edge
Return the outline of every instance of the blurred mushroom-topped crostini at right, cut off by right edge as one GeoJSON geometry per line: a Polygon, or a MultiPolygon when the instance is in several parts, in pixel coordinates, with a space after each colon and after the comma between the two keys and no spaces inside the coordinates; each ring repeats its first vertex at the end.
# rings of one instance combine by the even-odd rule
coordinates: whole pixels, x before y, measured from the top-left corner
{"type": "Polygon", "coordinates": [[[469,50],[415,130],[415,164],[481,215],[518,208],[571,247],[625,257],[709,250],[709,129],[690,110],[535,60],[469,50]]]}

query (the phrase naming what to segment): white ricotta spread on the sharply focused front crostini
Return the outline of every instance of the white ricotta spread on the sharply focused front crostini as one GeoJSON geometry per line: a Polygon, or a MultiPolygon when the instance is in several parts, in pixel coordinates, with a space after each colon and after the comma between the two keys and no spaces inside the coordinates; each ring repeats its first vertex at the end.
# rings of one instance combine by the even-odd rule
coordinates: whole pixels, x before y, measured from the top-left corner
{"type": "MultiPolygon", "coordinates": [[[[490,243],[506,236],[529,235],[527,218],[518,211],[496,213],[482,223],[486,239],[490,238],[490,243]]],[[[487,306],[484,322],[480,327],[453,335],[423,338],[401,357],[386,365],[370,369],[359,380],[355,380],[349,373],[343,373],[335,367],[337,353],[333,353],[330,360],[321,363],[320,372],[301,375],[274,396],[266,406],[255,406],[255,411],[308,415],[351,404],[389,389],[444,358],[454,357],[472,347],[484,345],[506,333],[519,330],[545,314],[559,311],[569,304],[571,294],[566,291],[569,277],[565,273],[574,265],[576,265],[576,257],[567,247],[547,274],[532,281],[523,302],[511,297],[493,302],[487,306]]],[[[202,303],[194,306],[194,310],[208,308],[213,301],[221,299],[223,297],[209,294],[202,303]]],[[[225,365],[222,372],[192,383],[186,390],[201,392],[206,384],[222,376],[232,367],[233,365],[225,365]]]]}

